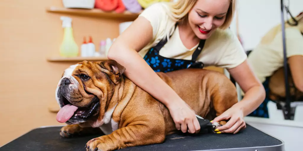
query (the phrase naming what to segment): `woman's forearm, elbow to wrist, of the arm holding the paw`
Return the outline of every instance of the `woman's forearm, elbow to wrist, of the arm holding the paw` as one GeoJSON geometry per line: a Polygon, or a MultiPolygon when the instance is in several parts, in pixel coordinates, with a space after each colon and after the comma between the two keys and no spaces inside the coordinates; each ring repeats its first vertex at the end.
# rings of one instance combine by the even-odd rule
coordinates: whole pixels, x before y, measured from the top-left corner
{"type": "Polygon", "coordinates": [[[247,116],[255,111],[265,99],[265,89],[261,86],[254,86],[250,88],[241,101],[236,103],[233,107],[243,111],[243,116],[247,116]]]}

